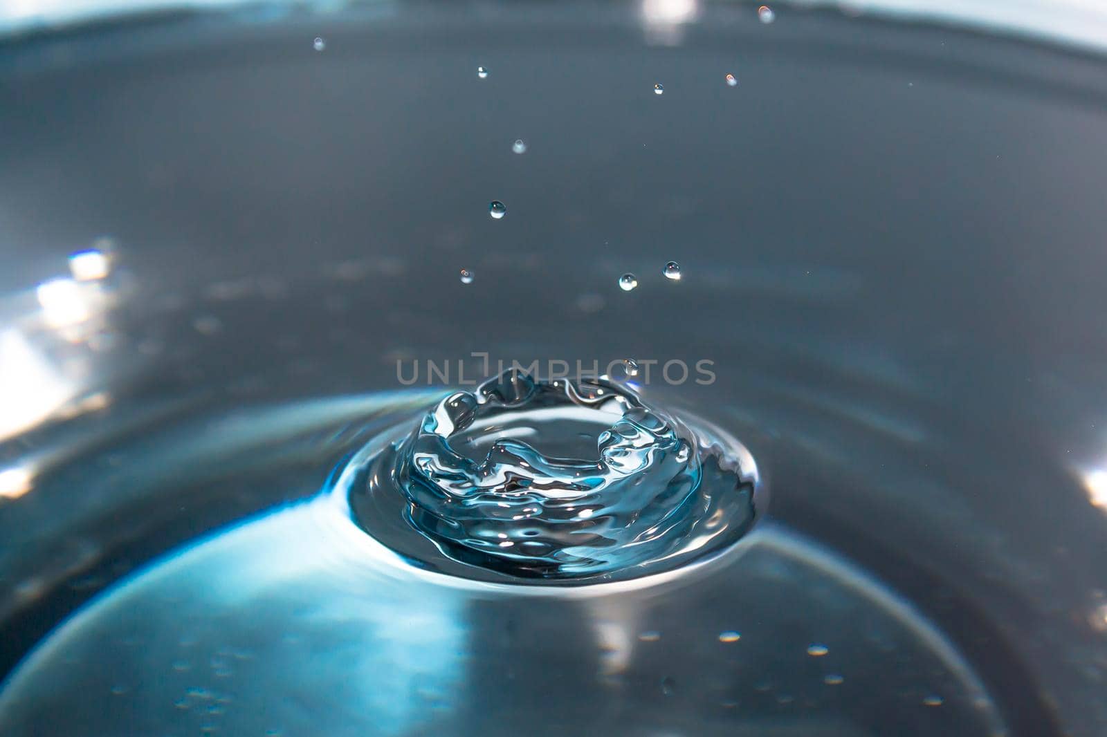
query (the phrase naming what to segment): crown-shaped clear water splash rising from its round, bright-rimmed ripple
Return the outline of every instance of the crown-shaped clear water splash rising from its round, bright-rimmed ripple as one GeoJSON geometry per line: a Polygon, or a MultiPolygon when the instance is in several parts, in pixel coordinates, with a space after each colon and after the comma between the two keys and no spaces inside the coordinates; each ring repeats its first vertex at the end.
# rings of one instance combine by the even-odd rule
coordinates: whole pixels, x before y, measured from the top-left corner
{"type": "Polygon", "coordinates": [[[755,478],[735,445],[617,381],[513,369],[446,396],[406,438],[371,442],[333,494],[379,542],[443,572],[612,581],[749,529],[755,478]]]}

